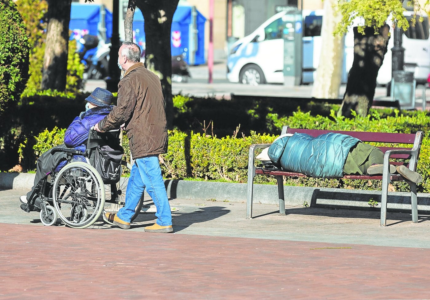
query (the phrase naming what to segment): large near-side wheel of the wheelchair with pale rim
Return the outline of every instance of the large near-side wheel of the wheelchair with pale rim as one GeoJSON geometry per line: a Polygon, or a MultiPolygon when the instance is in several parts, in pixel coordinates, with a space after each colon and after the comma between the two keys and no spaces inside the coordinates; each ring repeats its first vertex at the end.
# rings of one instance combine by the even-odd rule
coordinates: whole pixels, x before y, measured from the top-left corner
{"type": "Polygon", "coordinates": [[[91,165],[72,162],[55,177],[52,198],[58,217],[66,225],[86,228],[103,211],[104,184],[91,165]]]}

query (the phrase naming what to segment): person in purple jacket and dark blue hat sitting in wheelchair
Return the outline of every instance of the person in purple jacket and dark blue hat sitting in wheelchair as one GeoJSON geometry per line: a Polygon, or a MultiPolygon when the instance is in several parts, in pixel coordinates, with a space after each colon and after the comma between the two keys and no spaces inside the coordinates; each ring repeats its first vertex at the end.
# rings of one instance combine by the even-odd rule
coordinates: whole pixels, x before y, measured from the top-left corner
{"type": "MultiPolygon", "coordinates": [[[[88,139],[89,130],[92,126],[97,124],[101,119],[109,114],[112,110],[112,93],[106,89],[95,88],[95,90],[86,99],[85,111],[80,113],[73,122],[70,124],[66,133],[64,134],[64,144],[52,147],[43,153],[36,162],[36,176],[34,178],[34,185],[27,195],[19,197],[22,204],[27,204],[35,187],[39,181],[52,171],[58,172],[64,165],[66,165],[67,153],[55,152],[51,153],[55,148],[68,148],[73,150],[86,150],[86,141],[88,139]],[[60,164],[57,166],[58,162],[60,164]],[[55,168],[55,166],[57,166],[55,168]],[[54,170],[55,168],[55,170],[54,170]]],[[[75,161],[85,161],[83,156],[75,155],[75,161]]],[[[40,207],[40,199],[37,195],[35,205],[40,207]]]]}

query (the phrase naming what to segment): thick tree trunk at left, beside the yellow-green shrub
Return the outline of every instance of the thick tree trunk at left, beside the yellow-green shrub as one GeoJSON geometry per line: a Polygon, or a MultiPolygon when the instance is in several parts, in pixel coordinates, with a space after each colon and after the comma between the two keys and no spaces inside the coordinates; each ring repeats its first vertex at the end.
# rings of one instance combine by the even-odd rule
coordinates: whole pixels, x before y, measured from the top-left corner
{"type": "Polygon", "coordinates": [[[41,89],[66,89],[71,0],[48,1],[48,28],[41,89]]]}

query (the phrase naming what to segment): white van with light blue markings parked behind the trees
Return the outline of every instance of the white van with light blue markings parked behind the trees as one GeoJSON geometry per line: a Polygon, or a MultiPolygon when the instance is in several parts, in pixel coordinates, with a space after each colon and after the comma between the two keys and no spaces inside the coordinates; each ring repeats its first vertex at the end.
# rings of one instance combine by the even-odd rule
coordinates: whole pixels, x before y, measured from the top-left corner
{"type": "MultiPolygon", "coordinates": [[[[227,79],[233,83],[258,85],[262,83],[284,83],[283,59],[284,40],[282,38],[283,16],[279,12],[261,24],[252,34],[233,44],[227,59],[227,79]]],[[[412,22],[413,12],[405,12],[412,22]]],[[[302,84],[313,83],[322,47],[321,26],[323,10],[303,10],[303,63],[302,84]]],[[[391,26],[390,26],[391,27],[391,26]]],[[[392,31],[392,29],[391,29],[392,31]]],[[[347,82],[347,74],[353,63],[353,33],[345,37],[342,83],[347,82]]],[[[403,34],[405,67],[415,72],[417,83],[425,82],[430,73],[430,39],[427,16],[422,23],[417,22],[403,34]]],[[[388,52],[378,73],[378,84],[391,80],[391,48],[393,37],[388,44],[388,52]]]]}

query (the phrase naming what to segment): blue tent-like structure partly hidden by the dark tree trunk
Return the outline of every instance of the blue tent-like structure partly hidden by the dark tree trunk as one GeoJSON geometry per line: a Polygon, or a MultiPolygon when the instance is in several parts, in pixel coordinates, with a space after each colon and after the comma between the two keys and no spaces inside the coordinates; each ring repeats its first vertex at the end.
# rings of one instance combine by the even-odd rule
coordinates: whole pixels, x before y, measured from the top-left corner
{"type": "MultiPolygon", "coordinates": [[[[184,60],[190,64],[205,63],[205,22],[206,18],[197,11],[196,24],[192,23],[192,7],[178,6],[172,20],[171,48],[172,55],[184,55],[184,60]],[[190,32],[195,27],[197,37],[190,36],[190,32]],[[193,39],[195,40],[193,42],[193,39]],[[193,45],[195,44],[194,57],[190,57],[193,53],[193,45]]],[[[135,42],[144,49],[145,32],[144,18],[142,12],[136,8],[133,18],[133,32],[135,34],[135,42]]]]}

